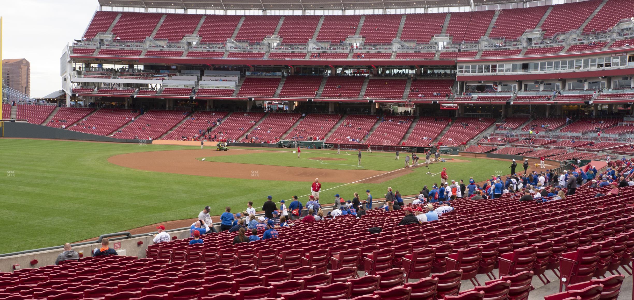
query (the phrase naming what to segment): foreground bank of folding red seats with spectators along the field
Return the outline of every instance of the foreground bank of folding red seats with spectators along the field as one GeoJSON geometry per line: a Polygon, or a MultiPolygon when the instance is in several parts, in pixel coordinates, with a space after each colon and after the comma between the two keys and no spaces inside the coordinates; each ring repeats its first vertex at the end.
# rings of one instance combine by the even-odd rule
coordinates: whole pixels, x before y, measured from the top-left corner
{"type": "Polygon", "coordinates": [[[452,184],[444,202],[435,186],[411,203],[341,201],[316,218],[293,218],[294,202],[290,220],[278,218],[265,202],[269,219],[251,215],[253,230],[207,232],[196,221],[178,239],[157,226],[145,258],[119,256],[104,238],[78,261],[68,245],[58,266],[0,273],[0,299],[627,299],[634,164],[590,170],[550,176],[543,190],[510,183],[490,199],[479,198],[498,194],[501,178],[464,195],[452,184]],[[537,195],[551,188],[560,193],[537,195]]]}

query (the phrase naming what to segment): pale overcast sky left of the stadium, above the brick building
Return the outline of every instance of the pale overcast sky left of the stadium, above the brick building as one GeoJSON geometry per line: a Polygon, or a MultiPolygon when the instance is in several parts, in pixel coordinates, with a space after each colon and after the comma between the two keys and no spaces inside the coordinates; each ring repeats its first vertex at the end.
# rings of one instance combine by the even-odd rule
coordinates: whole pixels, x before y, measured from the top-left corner
{"type": "Polygon", "coordinates": [[[60,56],[67,42],[80,39],[96,0],[0,0],[3,16],[3,59],[31,63],[31,96],[61,89],[60,56]]]}

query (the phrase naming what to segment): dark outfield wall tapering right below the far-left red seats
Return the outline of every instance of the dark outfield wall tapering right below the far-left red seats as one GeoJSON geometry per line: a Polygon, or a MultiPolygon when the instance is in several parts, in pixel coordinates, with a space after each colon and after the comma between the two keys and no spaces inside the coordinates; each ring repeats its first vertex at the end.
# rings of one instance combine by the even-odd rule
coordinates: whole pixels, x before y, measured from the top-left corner
{"type": "MultiPolygon", "coordinates": [[[[80,140],[80,141],[112,141],[117,143],[139,143],[139,140],[124,140],[110,136],[100,136],[90,133],[80,133],[68,129],[48,127],[27,122],[4,121],[5,138],[49,138],[55,140],[80,140]]],[[[141,140],[144,143],[152,143],[151,140],[141,140]]]]}

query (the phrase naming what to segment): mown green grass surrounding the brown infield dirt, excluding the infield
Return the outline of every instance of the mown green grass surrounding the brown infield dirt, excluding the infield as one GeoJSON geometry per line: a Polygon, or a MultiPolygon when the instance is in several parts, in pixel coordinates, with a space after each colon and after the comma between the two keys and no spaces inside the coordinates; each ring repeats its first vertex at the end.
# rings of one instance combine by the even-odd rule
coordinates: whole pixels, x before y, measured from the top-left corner
{"type": "MultiPolygon", "coordinates": [[[[3,150],[0,170],[14,175],[3,175],[0,181],[0,240],[11,241],[0,243],[0,253],[61,245],[162,221],[196,218],[205,205],[212,207],[212,215],[219,215],[225,206],[242,210],[247,201],[259,206],[267,195],[273,195],[274,200],[305,195],[310,186],[294,181],[210,179],[148,172],[107,161],[108,157],[122,153],[198,147],[4,138],[0,139],[0,145],[3,150]]],[[[368,155],[363,152],[364,162],[368,155]]],[[[384,155],[389,160],[385,166],[394,163],[393,153],[372,155],[384,155]]],[[[254,163],[255,159],[247,157],[247,160],[254,163]]],[[[403,164],[402,160],[403,157],[397,167],[403,164]]],[[[474,176],[476,181],[482,181],[508,167],[508,162],[502,160],[469,160],[446,164],[450,179],[466,180],[474,176]]],[[[377,162],[377,167],[381,164],[377,162]]],[[[439,171],[435,169],[439,167],[432,166],[432,170],[439,171]]],[[[366,189],[380,198],[387,186],[411,195],[423,185],[439,182],[439,176],[429,177],[426,172],[427,168],[418,168],[385,183],[341,186],[323,192],[321,199],[328,204],[332,199],[330,194],[340,193],[347,199],[352,198],[353,192],[363,195],[366,189]]],[[[342,184],[324,182],[323,189],[342,184]]],[[[306,197],[301,200],[306,202],[306,197]]]]}

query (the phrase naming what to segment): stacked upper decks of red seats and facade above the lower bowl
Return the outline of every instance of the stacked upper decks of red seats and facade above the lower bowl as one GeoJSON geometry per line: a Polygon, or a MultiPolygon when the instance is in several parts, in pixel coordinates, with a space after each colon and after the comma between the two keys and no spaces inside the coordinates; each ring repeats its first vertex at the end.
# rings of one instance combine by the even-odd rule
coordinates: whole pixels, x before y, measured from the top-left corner
{"type": "Polygon", "coordinates": [[[83,36],[63,51],[67,102],[79,96],[86,103],[128,98],[126,105],[160,99],[146,105],[167,108],[172,100],[507,105],[557,97],[588,105],[629,103],[634,95],[631,0],[384,15],[218,15],[179,3],[181,11],[172,11],[166,4],[178,3],[133,0],[125,5],[138,11],[130,11],[105,10],[124,3],[101,1],[83,36]],[[382,77],[408,79],[368,80],[382,77]],[[611,91],[628,93],[603,96],[611,91]]]}

